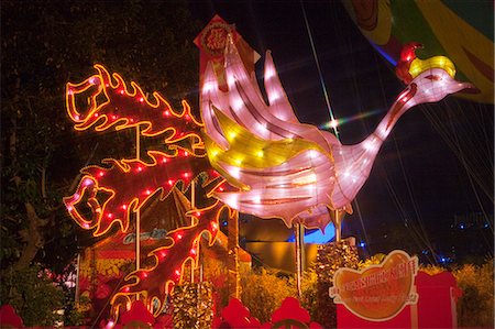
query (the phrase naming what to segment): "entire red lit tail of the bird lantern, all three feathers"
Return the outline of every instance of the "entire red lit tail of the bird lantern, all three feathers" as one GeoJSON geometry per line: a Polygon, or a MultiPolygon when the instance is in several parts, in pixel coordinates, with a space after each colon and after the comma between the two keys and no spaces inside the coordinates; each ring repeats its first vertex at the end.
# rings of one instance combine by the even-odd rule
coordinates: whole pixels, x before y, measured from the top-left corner
{"type": "MultiPolygon", "coordinates": [[[[163,200],[180,183],[185,190],[199,174],[208,172],[210,177],[218,174],[211,171],[206,157],[199,135],[201,123],[193,117],[186,101],[178,113],[160,94],[153,92],[150,100],[135,83],[128,89],[120,75],[110,76],[101,65],[95,68],[98,75],[80,84],[67,84],[67,112],[75,129],[105,131],[138,127],[138,138],[163,134],[168,152],[148,151],[151,161],[147,162],[107,158],[102,161],[106,166],[91,165],[81,169],[84,176],[75,194],[64,198],[64,204],[82,229],[94,230],[92,234],[99,237],[114,224],[127,232],[130,220],[156,194],[160,193],[163,200]],[[79,98],[88,101],[81,102],[79,98]],[[79,107],[79,103],[85,106],[79,107]],[[183,145],[184,141],[189,142],[189,147],[183,145]]],[[[208,191],[209,184],[213,183],[216,188],[231,189],[222,185],[223,180],[217,180],[205,183],[204,188],[208,191]]],[[[143,300],[155,316],[161,312],[173,286],[180,283],[186,263],[197,266],[202,233],[209,232],[210,245],[215,242],[218,217],[224,208],[227,206],[216,201],[208,208],[190,210],[190,226],[167,232],[165,244],[147,254],[145,263],[154,265],[138,266],[112,296],[113,323],[135,300],[143,300]]],[[[235,217],[237,212],[229,216],[235,217]]]]}

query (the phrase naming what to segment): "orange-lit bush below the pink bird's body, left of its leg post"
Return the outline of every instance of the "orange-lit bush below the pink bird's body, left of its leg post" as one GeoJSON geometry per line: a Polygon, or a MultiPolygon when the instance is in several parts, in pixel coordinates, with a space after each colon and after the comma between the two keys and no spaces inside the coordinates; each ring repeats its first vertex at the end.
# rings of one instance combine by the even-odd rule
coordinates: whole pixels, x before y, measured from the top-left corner
{"type": "Polygon", "coordinates": [[[296,296],[294,279],[277,276],[261,268],[241,273],[241,299],[262,323],[270,321],[272,312],[289,296],[296,296]]]}

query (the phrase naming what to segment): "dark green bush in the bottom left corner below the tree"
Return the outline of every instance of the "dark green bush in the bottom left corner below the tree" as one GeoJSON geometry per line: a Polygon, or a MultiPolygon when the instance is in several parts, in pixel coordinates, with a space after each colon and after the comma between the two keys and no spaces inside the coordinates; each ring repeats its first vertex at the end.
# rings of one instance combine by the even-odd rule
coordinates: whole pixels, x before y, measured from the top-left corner
{"type": "Polygon", "coordinates": [[[64,293],[36,265],[1,273],[0,300],[12,305],[28,327],[54,326],[62,320],[55,311],[64,305],[64,293]]]}

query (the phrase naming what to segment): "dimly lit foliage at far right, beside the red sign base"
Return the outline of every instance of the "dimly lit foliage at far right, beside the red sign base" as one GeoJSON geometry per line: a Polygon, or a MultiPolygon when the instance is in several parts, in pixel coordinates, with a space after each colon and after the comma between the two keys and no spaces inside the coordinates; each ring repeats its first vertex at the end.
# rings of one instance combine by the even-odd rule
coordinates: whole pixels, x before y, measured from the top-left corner
{"type": "Polygon", "coordinates": [[[458,301],[459,326],[493,328],[493,259],[481,266],[465,264],[452,274],[462,289],[462,296],[458,301]]]}

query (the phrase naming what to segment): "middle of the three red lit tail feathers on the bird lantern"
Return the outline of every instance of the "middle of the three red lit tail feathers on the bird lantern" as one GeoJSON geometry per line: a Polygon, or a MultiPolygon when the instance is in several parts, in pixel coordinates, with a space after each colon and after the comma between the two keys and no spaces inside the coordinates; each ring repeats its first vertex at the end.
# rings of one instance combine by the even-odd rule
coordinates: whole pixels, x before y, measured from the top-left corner
{"type": "Polygon", "coordinates": [[[184,182],[189,185],[199,173],[209,169],[206,157],[195,156],[191,161],[193,156],[189,156],[191,153],[185,155],[184,152],[186,151],[176,150],[175,156],[170,156],[148,151],[153,163],[109,158],[103,161],[111,164],[109,168],[100,166],[82,168],[81,173],[85,176],[79,182],[76,193],[64,198],[69,215],[82,229],[96,228],[95,237],[105,234],[113,223],[118,223],[125,232],[131,215],[139,211],[158,190],[161,198],[165,199],[177,183],[184,182]],[[99,191],[110,194],[102,205],[97,198],[99,191]],[[89,219],[81,215],[82,210],[78,210],[84,209],[82,206],[86,204],[92,210],[89,219]]]}

